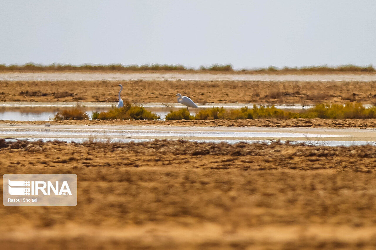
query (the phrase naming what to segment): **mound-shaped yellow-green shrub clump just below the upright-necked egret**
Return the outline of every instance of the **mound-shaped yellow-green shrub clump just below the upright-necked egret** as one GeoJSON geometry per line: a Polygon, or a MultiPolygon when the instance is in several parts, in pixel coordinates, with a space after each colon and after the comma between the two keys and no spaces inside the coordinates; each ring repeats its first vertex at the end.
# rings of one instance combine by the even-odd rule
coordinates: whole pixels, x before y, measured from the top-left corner
{"type": "Polygon", "coordinates": [[[132,105],[130,102],[126,102],[122,108],[112,106],[111,110],[102,111],[95,116],[99,120],[156,120],[161,118],[144,107],[132,105]]]}

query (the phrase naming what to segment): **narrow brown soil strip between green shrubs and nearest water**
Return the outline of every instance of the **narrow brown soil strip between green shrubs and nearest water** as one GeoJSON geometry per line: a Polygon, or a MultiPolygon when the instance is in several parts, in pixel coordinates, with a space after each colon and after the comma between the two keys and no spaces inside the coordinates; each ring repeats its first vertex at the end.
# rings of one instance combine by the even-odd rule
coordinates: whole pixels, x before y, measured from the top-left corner
{"type": "Polygon", "coordinates": [[[168,125],[168,126],[225,126],[225,127],[329,127],[329,128],[376,128],[376,119],[255,119],[255,120],[0,120],[0,124],[52,125],[168,125]]]}

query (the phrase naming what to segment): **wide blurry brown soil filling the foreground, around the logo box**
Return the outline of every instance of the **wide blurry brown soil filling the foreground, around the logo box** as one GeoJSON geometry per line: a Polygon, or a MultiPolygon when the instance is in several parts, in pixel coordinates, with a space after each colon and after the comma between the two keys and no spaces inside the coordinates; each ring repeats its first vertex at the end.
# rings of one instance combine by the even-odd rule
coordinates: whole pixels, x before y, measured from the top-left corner
{"type": "Polygon", "coordinates": [[[74,207],[2,206],[5,249],[376,247],[373,146],[0,147],[2,173],[76,173],[79,190],[74,207]]]}

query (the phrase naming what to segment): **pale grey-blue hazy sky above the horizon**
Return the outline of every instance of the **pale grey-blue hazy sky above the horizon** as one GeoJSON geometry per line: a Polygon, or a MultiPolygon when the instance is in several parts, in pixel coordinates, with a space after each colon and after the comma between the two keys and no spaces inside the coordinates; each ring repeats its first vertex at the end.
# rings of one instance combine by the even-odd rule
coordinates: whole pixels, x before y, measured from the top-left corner
{"type": "Polygon", "coordinates": [[[375,0],[1,0],[0,63],[376,65],[375,0]]]}

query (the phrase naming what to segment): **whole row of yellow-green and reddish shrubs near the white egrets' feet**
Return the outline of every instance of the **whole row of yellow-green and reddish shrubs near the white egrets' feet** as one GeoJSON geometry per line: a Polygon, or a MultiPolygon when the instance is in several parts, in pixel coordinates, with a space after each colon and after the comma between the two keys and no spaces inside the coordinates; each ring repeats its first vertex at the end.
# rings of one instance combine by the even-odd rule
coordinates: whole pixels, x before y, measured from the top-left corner
{"type": "MultiPolygon", "coordinates": [[[[88,119],[83,106],[67,108],[55,115],[55,120],[83,120],[88,119]]],[[[300,112],[286,111],[274,106],[263,107],[253,105],[253,108],[243,107],[240,109],[226,110],[223,107],[200,109],[195,116],[191,115],[186,108],[170,111],[166,120],[217,120],[217,119],[372,119],[376,118],[376,106],[364,107],[360,102],[348,102],[341,104],[316,104],[312,108],[300,112]]],[[[157,120],[161,119],[155,113],[146,110],[139,105],[126,102],[124,107],[112,107],[109,111],[93,112],[93,120],[157,120]]]]}

